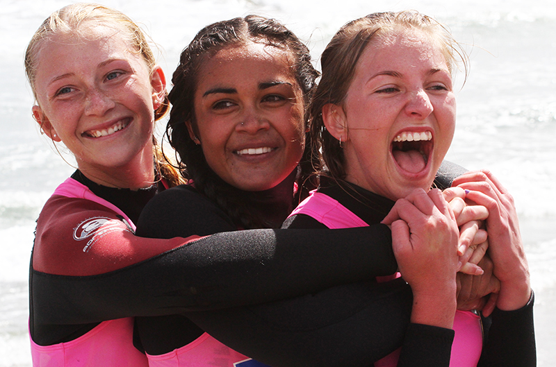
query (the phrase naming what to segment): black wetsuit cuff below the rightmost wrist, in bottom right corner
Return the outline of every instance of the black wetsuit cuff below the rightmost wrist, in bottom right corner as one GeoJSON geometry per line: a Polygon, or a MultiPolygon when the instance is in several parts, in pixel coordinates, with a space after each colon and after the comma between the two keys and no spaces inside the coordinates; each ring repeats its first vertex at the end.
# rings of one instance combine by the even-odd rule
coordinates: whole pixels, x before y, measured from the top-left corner
{"type": "Polygon", "coordinates": [[[485,343],[478,367],[537,366],[533,323],[534,295],[515,311],[495,309],[486,319],[485,343]]]}

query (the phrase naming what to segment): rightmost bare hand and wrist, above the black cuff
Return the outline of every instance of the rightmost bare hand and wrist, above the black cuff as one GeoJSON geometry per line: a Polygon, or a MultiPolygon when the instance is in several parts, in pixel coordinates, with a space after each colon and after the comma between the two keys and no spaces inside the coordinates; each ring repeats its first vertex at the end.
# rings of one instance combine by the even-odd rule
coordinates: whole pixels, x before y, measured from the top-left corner
{"type": "Polygon", "coordinates": [[[468,190],[466,198],[489,211],[486,231],[493,273],[500,280],[496,306],[502,310],[519,309],[530,295],[530,275],[518,225],[514,198],[489,171],[466,173],[453,185],[468,190]]]}

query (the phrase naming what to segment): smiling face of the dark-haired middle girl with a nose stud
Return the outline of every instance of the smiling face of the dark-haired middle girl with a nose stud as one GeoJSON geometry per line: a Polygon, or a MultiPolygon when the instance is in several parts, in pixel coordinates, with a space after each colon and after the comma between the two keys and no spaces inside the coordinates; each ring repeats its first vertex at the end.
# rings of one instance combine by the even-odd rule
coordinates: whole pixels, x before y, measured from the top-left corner
{"type": "Polygon", "coordinates": [[[206,162],[245,191],[278,185],[304,149],[304,102],[283,49],[248,42],[207,58],[195,91],[195,132],[206,162]]]}

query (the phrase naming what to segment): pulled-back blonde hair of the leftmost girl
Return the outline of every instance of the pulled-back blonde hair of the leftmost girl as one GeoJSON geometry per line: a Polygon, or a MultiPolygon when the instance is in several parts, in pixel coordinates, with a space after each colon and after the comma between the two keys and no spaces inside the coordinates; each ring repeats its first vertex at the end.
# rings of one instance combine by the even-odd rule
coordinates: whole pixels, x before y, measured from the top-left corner
{"type": "MultiPolygon", "coordinates": [[[[90,27],[97,25],[112,27],[120,31],[118,34],[129,40],[130,49],[145,60],[149,72],[153,71],[154,65],[156,65],[154,53],[147,42],[145,33],[141,31],[141,28],[135,22],[124,13],[106,6],[95,3],[75,3],[65,6],[60,10],[56,10],[47,17],[35,32],[27,46],[24,59],[25,74],[29,85],[31,85],[33,96],[35,96],[36,101],[38,101],[38,99],[35,89],[35,78],[44,42],[49,42],[53,37],[58,35],[87,39],[87,37],[90,37],[88,33],[90,27]]],[[[167,93],[165,93],[160,107],[154,111],[154,121],[162,119],[168,109],[169,103],[167,93]]],[[[156,167],[161,173],[161,176],[164,177],[171,186],[179,185],[179,183],[183,182],[181,175],[171,164],[167,163],[167,160],[163,159],[163,152],[158,144],[156,144],[154,136],[153,142],[156,167]]]]}

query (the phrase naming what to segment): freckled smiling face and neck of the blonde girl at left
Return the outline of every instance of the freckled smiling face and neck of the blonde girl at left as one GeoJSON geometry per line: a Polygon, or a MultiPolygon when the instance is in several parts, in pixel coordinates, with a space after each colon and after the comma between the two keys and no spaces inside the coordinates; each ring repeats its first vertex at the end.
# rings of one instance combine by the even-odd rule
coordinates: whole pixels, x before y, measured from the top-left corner
{"type": "Polygon", "coordinates": [[[110,185],[109,171],[152,162],[154,110],[164,88],[161,69],[151,72],[119,30],[92,25],[86,38],[54,35],[42,44],[33,115],[81,171],[110,185]]]}

